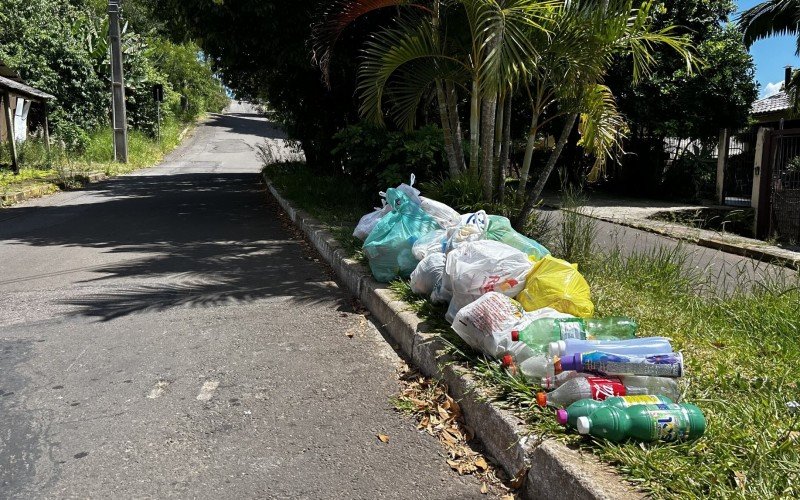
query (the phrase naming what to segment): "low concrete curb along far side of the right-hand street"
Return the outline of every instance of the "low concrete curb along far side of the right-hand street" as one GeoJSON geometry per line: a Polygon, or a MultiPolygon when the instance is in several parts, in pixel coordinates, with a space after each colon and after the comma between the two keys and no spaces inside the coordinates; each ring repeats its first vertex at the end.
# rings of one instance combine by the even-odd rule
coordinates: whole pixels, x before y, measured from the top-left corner
{"type": "MultiPolygon", "coordinates": [[[[551,205],[548,205],[548,207],[558,208],[551,205]]],[[[564,210],[563,208],[558,208],[558,209],[564,210]]],[[[770,251],[764,248],[760,248],[757,245],[747,245],[747,244],[737,245],[717,238],[705,238],[699,235],[690,236],[680,231],[672,231],[669,228],[663,228],[663,227],[652,227],[648,224],[642,224],[635,221],[610,219],[607,217],[599,217],[597,215],[587,214],[583,212],[578,212],[578,213],[580,213],[585,217],[601,220],[603,222],[618,224],[620,226],[630,227],[633,229],[638,229],[640,231],[646,231],[648,233],[658,234],[676,240],[688,241],[690,243],[694,243],[697,246],[711,248],[713,250],[720,250],[722,252],[732,253],[735,255],[741,255],[742,257],[747,257],[760,262],[769,262],[771,264],[777,264],[779,266],[784,266],[790,269],[800,271],[800,255],[798,255],[797,252],[792,252],[790,250],[782,250],[780,251],[780,253],[778,253],[776,251],[770,251]]],[[[687,227],[687,229],[691,228],[687,227]]]]}

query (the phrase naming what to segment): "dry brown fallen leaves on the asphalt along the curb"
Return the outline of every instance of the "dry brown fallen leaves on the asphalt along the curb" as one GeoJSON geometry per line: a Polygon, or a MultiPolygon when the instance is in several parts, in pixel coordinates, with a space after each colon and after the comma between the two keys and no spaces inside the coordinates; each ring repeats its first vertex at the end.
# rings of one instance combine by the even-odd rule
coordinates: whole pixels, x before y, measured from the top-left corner
{"type": "Polygon", "coordinates": [[[393,398],[395,408],[413,416],[418,430],[438,439],[447,451],[447,465],[459,475],[474,475],[481,482],[483,494],[488,494],[492,486],[502,492],[503,500],[516,498],[514,482],[470,446],[475,432],[464,422],[461,406],[447,393],[445,384],[403,366],[400,386],[400,393],[393,398]]]}

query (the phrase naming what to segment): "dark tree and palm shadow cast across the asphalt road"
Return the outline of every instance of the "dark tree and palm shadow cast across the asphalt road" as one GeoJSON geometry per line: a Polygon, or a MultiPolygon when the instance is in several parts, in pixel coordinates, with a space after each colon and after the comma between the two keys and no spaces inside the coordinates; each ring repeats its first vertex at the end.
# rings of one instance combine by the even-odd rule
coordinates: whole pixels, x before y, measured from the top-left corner
{"type": "Polygon", "coordinates": [[[316,254],[281,226],[257,174],[131,176],[88,191],[95,203],[17,208],[0,225],[8,243],[130,255],[75,283],[62,301],[71,315],[109,321],[264,298],[352,309],[316,254]],[[86,284],[109,291],[81,294],[86,284]]]}

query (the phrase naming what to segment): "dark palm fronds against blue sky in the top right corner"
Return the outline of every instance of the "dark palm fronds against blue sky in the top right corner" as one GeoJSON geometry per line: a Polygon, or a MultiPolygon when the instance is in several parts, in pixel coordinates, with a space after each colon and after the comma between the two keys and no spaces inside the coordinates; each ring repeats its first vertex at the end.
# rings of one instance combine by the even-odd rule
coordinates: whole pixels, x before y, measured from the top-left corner
{"type": "Polygon", "coordinates": [[[744,43],[748,47],[763,38],[779,35],[797,37],[800,54],[800,0],[766,0],[739,17],[744,43]]]}

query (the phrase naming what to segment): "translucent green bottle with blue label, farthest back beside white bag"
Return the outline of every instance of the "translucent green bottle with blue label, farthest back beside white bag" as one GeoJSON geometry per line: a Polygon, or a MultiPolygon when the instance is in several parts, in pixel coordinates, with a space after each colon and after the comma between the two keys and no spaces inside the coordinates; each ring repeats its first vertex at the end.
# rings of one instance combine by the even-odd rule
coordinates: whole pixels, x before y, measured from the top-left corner
{"type": "Polygon", "coordinates": [[[517,331],[514,340],[546,352],[550,342],[564,339],[619,340],[633,338],[636,322],[630,318],[553,318],[531,321],[517,331]]]}

